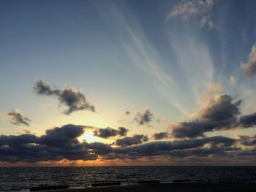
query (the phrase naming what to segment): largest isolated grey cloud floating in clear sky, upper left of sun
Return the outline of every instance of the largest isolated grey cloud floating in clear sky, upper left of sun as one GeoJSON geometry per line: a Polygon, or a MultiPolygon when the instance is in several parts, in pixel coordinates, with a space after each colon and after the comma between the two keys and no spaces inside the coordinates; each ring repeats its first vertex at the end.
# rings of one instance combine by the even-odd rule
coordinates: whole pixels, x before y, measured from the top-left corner
{"type": "Polygon", "coordinates": [[[53,87],[48,82],[37,80],[34,85],[34,91],[39,95],[56,96],[60,104],[67,107],[67,110],[64,110],[66,115],[79,110],[95,111],[94,105],[90,104],[83,93],[80,93],[75,88],[64,88],[61,90],[53,87]]]}

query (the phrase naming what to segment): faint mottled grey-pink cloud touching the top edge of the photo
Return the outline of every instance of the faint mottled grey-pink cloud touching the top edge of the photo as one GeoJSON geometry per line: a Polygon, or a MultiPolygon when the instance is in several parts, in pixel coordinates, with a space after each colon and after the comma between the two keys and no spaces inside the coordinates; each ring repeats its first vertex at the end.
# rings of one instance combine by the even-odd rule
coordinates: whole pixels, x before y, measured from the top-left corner
{"type": "Polygon", "coordinates": [[[197,18],[200,20],[200,27],[214,28],[215,24],[211,19],[211,10],[214,0],[182,0],[170,11],[170,17],[181,16],[184,20],[197,18]]]}

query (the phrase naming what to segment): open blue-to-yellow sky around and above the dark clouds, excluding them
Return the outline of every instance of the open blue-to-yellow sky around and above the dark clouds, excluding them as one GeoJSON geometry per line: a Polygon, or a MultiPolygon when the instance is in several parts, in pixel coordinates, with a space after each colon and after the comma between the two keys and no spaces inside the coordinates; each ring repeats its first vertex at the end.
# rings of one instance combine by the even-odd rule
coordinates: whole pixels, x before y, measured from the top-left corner
{"type": "MultiPolygon", "coordinates": [[[[26,129],[40,136],[72,123],[124,126],[131,137],[151,138],[222,94],[243,101],[239,115],[255,112],[255,77],[244,77],[255,61],[241,66],[256,43],[256,1],[1,1],[0,7],[0,134],[26,129]],[[64,115],[58,99],[35,93],[38,80],[76,88],[96,112],[64,115]],[[29,127],[10,123],[6,114],[15,109],[31,119],[29,127]],[[150,125],[138,126],[133,117],[147,109],[150,125]]],[[[255,128],[206,136],[240,134],[253,137],[255,128]]]]}

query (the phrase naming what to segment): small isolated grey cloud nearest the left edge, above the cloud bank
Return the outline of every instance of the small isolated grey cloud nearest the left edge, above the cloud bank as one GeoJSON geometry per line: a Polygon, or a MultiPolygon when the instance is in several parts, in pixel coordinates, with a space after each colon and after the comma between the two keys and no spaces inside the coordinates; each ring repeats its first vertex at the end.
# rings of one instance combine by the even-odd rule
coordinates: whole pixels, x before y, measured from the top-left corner
{"type": "Polygon", "coordinates": [[[4,116],[10,118],[10,123],[17,126],[29,126],[29,122],[31,121],[29,118],[24,117],[20,110],[12,110],[10,112],[6,112],[4,113],[4,116]]]}

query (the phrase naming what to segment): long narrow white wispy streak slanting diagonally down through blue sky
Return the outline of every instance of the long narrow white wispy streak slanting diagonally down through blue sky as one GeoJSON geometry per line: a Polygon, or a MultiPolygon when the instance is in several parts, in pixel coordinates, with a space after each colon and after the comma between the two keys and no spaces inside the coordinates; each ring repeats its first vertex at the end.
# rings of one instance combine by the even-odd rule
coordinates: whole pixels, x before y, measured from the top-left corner
{"type": "Polygon", "coordinates": [[[164,61],[158,51],[151,45],[140,26],[134,24],[136,27],[131,27],[130,23],[124,19],[120,12],[116,13],[121,25],[126,28],[128,33],[128,39],[125,39],[122,43],[124,50],[126,50],[129,58],[132,59],[132,64],[142,69],[143,72],[150,75],[152,80],[156,83],[155,88],[159,90],[167,101],[176,107],[180,112],[187,114],[187,107],[180,99],[184,99],[181,93],[181,88],[177,85],[176,80],[172,77],[172,74],[168,73],[163,65],[164,61]],[[175,91],[173,91],[175,90],[175,91]]]}

